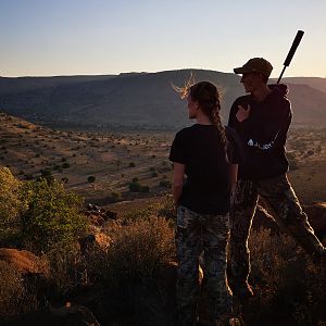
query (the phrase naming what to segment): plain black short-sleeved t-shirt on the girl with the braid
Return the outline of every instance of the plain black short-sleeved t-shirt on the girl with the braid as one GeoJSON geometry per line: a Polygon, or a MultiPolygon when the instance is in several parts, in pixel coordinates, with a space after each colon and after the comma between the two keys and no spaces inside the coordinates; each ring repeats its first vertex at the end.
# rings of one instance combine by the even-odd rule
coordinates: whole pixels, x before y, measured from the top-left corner
{"type": "MultiPolygon", "coordinates": [[[[229,163],[218,139],[216,126],[196,124],[176,134],[170,152],[172,162],[185,164],[179,203],[200,214],[225,214],[230,208],[229,163]]],[[[237,163],[231,149],[228,156],[237,163]]]]}

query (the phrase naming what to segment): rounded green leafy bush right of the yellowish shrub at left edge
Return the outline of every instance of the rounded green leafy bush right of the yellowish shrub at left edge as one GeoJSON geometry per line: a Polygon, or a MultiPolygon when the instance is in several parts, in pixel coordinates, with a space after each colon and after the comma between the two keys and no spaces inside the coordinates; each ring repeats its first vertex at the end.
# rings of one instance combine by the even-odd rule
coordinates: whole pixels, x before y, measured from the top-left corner
{"type": "Polygon", "coordinates": [[[22,192],[27,209],[22,215],[21,238],[30,250],[41,253],[86,233],[87,220],[79,213],[82,200],[62,184],[49,185],[41,178],[25,183],[22,192]]]}

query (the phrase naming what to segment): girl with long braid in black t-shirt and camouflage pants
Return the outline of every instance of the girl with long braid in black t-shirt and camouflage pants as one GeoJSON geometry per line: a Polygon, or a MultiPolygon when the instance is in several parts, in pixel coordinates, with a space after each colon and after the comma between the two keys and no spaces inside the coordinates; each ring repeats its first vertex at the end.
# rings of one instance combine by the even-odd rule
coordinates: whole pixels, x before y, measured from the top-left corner
{"type": "Polygon", "coordinates": [[[199,256],[203,252],[209,317],[212,325],[225,325],[231,312],[226,247],[237,164],[229,163],[231,155],[220,118],[217,88],[200,82],[183,90],[187,96],[189,118],[196,118],[197,123],[176,134],[170,153],[174,163],[173,197],[177,208],[179,324],[196,325],[199,256]]]}

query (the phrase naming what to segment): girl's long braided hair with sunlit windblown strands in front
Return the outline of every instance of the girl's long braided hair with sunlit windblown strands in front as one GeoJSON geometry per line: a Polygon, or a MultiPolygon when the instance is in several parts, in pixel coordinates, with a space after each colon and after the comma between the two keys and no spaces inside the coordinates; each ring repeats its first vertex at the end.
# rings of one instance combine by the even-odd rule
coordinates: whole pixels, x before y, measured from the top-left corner
{"type": "Polygon", "coordinates": [[[221,122],[220,111],[220,92],[217,87],[210,82],[199,82],[193,83],[193,77],[191,76],[187,82],[185,87],[174,87],[174,89],[184,99],[190,96],[192,101],[197,101],[202,112],[210,117],[213,125],[216,126],[220,134],[221,145],[226,149],[227,139],[225,136],[225,127],[221,122]]]}

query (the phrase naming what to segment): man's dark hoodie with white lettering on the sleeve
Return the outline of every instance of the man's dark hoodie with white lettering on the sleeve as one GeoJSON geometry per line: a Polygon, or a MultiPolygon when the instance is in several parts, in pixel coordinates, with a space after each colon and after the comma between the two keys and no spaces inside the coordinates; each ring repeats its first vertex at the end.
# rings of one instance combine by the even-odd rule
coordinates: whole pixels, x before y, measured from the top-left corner
{"type": "Polygon", "coordinates": [[[285,142],[292,112],[286,93],[286,85],[277,85],[261,102],[256,102],[251,95],[234,102],[228,126],[238,131],[244,150],[244,161],[239,164],[240,179],[271,178],[288,171],[285,142]],[[250,115],[240,123],[236,117],[238,105],[247,108],[248,104],[250,115]]]}

